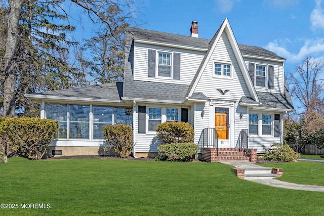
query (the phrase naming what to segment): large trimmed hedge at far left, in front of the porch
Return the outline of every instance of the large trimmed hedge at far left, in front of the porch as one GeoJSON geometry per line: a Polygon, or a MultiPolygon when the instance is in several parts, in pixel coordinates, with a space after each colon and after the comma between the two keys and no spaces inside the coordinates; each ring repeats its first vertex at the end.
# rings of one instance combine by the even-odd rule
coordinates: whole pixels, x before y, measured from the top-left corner
{"type": "Polygon", "coordinates": [[[58,123],[51,119],[5,118],[0,127],[17,155],[38,160],[54,139],[58,123]]]}

